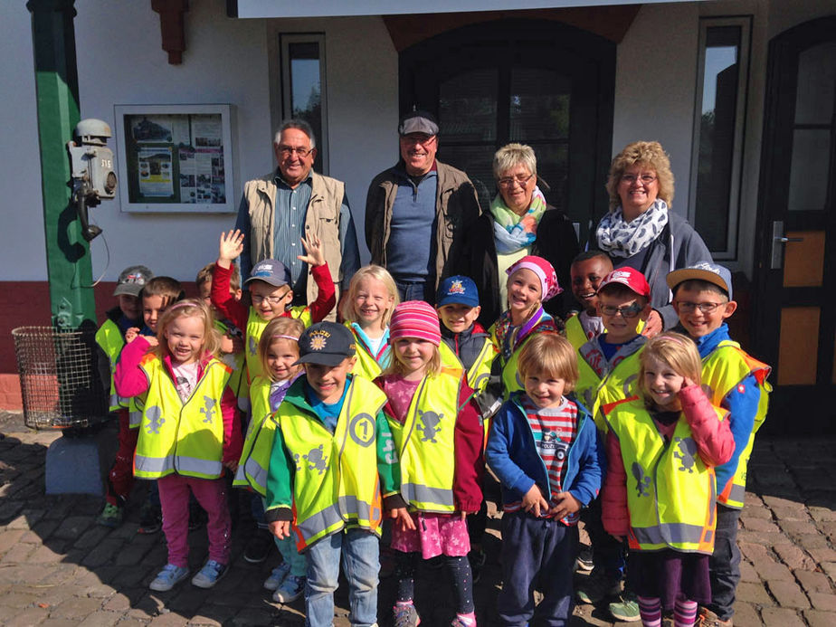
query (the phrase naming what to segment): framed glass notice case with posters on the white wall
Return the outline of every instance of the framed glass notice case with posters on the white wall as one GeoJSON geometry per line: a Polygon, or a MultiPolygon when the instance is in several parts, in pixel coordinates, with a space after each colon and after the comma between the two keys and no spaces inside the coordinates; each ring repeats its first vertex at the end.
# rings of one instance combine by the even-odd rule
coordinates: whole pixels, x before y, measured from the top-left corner
{"type": "Polygon", "coordinates": [[[121,210],[235,213],[232,105],[115,105],[121,210]]]}

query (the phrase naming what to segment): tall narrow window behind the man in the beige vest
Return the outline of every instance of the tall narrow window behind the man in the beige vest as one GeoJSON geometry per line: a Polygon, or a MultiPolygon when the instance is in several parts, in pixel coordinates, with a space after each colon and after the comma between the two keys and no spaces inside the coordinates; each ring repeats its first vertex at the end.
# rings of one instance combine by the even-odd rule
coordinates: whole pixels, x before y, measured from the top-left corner
{"type": "Polygon", "coordinates": [[[304,119],[317,136],[314,170],[328,174],[328,90],[325,34],[282,34],[281,119],[304,119]]]}

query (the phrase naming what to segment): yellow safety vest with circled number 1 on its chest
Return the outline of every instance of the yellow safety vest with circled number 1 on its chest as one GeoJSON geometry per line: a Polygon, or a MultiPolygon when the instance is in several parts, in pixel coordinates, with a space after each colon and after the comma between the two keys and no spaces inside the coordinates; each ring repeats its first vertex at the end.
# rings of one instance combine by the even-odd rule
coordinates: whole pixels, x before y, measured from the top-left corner
{"type": "Polygon", "coordinates": [[[385,403],[380,388],[353,376],[333,433],[315,413],[292,403],[272,414],[296,462],[293,527],[299,551],[347,525],[380,534],[376,415],[385,403]]]}

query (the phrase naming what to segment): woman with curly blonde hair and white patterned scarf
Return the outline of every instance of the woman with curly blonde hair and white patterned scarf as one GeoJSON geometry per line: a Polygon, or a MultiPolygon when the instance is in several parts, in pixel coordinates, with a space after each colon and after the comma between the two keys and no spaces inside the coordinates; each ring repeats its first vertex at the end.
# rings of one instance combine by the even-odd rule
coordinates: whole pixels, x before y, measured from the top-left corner
{"type": "Polygon", "coordinates": [[[678,320],[665,277],[678,268],[710,261],[711,253],[685,218],[670,211],[673,174],[658,141],[624,147],[613,158],[606,187],[610,213],[598,223],[595,240],[616,269],[629,266],[644,274],[653,308],[644,335],[653,336],[678,320]]]}

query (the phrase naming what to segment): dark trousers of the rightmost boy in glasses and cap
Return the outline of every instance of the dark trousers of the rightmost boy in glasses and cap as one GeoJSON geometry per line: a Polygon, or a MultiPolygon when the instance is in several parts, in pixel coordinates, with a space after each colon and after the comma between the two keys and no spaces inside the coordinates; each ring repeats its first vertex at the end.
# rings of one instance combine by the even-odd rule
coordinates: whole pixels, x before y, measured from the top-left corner
{"type": "Polygon", "coordinates": [[[711,603],[708,609],[727,621],[735,613],[735,593],[740,582],[740,549],[737,548],[737,518],[740,510],[717,503],[714,554],[708,558],[711,603]]]}

